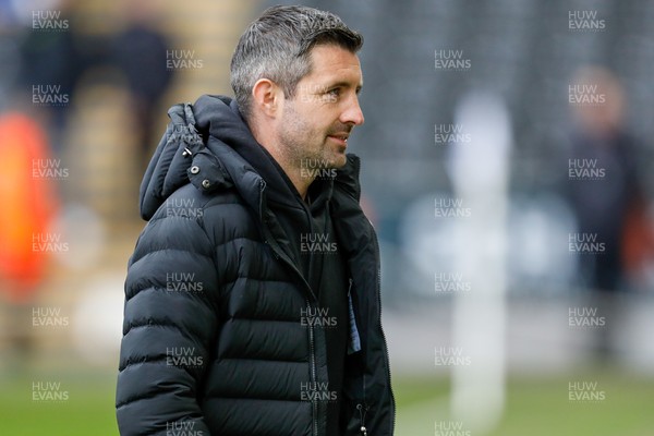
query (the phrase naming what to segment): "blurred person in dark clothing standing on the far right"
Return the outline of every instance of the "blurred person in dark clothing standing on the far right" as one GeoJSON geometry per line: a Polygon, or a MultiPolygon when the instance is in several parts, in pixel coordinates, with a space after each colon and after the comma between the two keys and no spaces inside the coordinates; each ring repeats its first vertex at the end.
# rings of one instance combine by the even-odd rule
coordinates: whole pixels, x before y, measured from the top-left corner
{"type": "MultiPolygon", "coordinates": [[[[595,344],[595,351],[606,355],[610,352],[609,334],[617,324],[614,296],[628,288],[623,262],[626,238],[632,230],[628,223],[642,222],[645,201],[638,177],[635,140],[625,130],[626,97],[619,81],[606,69],[586,66],[576,72],[571,87],[574,124],[567,155],[566,193],[577,216],[574,243],[580,247],[581,277],[594,293],[601,315],[606,315],[606,326],[598,329],[595,344]]],[[[645,240],[651,233],[640,237],[645,240]]]]}

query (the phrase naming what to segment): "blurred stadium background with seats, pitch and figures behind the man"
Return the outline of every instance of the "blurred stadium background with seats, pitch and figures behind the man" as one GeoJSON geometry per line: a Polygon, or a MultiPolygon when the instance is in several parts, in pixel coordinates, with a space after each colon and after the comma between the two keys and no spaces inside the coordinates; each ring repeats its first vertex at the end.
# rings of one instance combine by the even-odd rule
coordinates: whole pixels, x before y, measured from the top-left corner
{"type": "MultiPolygon", "coordinates": [[[[0,0],[0,434],[118,434],[143,168],[276,3],[0,0]]],[[[397,434],[654,435],[654,3],[303,4],[366,40],[397,434]]]]}

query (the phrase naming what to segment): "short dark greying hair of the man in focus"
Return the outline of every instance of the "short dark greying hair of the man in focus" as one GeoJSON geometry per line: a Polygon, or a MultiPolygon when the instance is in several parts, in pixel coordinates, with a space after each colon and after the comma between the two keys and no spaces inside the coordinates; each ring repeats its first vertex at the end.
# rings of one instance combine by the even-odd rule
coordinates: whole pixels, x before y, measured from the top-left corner
{"type": "Polygon", "coordinates": [[[262,77],[278,84],[287,98],[311,73],[311,50],[334,44],[358,52],[363,36],[326,11],[293,5],[267,9],[241,35],[231,59],[231,86],[243,116],[250,117],[252,87],[262,77]]]}

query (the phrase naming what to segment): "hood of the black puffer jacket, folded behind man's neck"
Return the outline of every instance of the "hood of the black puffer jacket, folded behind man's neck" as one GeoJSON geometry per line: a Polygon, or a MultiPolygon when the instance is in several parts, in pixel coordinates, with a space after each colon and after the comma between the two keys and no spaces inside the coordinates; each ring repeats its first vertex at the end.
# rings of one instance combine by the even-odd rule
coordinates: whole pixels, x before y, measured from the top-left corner
{"type": "MultiPolygon", "coordinates": [[[[193,183],[210,192],[235,185],[258,208],[253,196],[266,186],[266,199],[296,208],[301,201],[283,170],[261,146],[241,117],[237,101],[226,96],[204,95],[194,105],[179,104],[168,110],[170,122],[161,137],[140,191],[141,216],[149,220],[166,199],[181,186],[193,183]]],[[[358,190],[353,157],[337,171],[337,182],[358,190]]],[[[325,184],[331,191],[331,181],[325,184]]],[[[314,183],[316,183],[314,182],[314,183]]]]}

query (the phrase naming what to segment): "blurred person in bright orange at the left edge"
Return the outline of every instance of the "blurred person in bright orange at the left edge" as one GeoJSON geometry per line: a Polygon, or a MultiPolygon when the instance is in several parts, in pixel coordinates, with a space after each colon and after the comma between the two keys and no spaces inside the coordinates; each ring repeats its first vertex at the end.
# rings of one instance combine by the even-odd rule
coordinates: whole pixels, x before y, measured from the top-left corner
{"type": "Polygon", "coordinates": [[[40,165],[50,157],[46,133],[27,114],[0,113],[0,291],[11,305],[10,343],[25,358],[33,346],[32,305],[50,252],[41,237],[58,207],[57,191],[40,165]]]}

